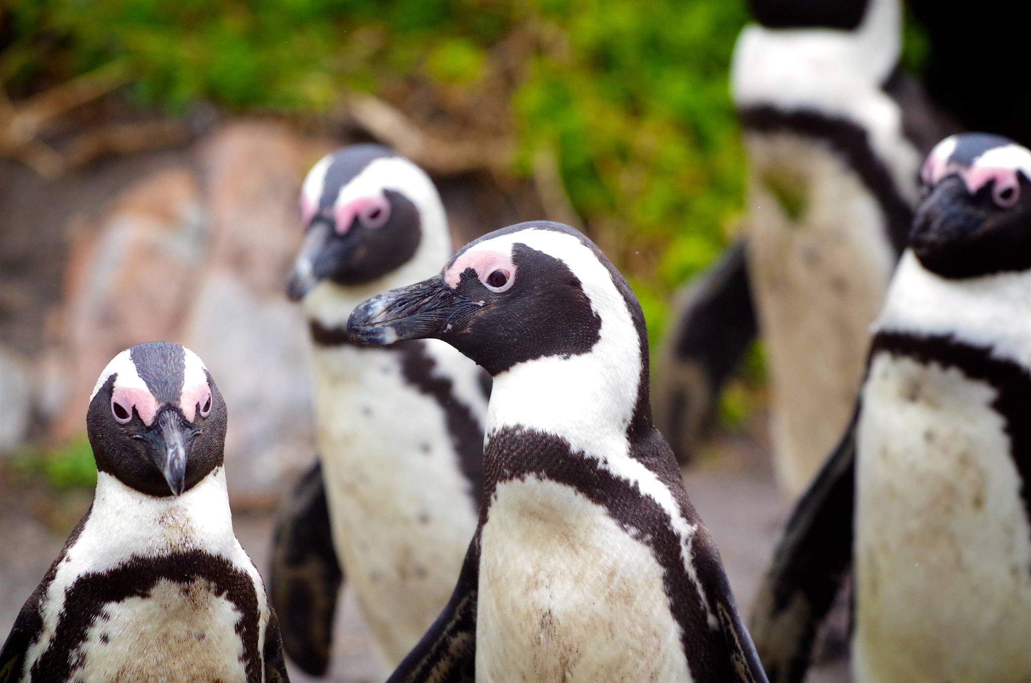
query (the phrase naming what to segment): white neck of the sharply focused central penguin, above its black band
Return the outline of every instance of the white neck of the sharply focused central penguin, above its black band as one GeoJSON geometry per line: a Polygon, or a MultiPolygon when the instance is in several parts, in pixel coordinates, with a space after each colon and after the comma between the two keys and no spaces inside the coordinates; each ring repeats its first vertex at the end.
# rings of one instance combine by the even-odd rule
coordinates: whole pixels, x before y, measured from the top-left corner
{"type": "Polygon", "coordinates": [[[641,363],[633,326],[603,319],[590,353],[538,358],[494,377],[487,441],[505,438],[511,429],[531,429],[562,437],[573,451],[593,457],[626,458],[641,363]]]}

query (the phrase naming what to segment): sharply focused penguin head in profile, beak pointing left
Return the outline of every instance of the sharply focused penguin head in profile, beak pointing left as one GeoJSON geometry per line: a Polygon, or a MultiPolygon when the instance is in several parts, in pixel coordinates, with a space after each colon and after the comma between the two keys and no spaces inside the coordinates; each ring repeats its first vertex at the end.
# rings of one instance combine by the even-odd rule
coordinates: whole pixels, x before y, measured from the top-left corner
{"type": "Polygon", "coordinates": [[[440,274],[368,299],[347,332],[365,345],[443,339],[492,376],[592,353],[603,334],[647,364],[644,317],[626,280],[590,239],[546,221],[484,235],[440,274]]]}

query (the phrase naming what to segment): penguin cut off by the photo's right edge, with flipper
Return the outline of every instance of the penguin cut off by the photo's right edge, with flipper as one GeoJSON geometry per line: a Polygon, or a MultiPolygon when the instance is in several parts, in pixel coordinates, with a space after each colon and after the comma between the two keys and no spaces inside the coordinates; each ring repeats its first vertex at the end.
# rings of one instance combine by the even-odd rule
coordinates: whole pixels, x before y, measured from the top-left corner
{"type": "Polygon", "coordinates": [[[799,501],[753,633],[801,681],[841,577],[853,675],[1031,679],[1031,152],[942,140],[851,426],[799,501]]]}

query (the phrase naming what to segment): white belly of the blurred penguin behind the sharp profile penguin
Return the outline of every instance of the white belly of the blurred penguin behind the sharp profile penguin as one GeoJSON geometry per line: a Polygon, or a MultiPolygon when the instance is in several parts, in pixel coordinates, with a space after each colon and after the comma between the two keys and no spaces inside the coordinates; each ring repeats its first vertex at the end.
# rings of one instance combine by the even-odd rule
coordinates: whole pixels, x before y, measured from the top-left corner
{"type": "Polygon", "coordinates": [[[317,350],[315,362],[333,543],[392,669],[451,597],[475,506],[443,411],[404,382],[396,354],[345,347],[317,350]]]}

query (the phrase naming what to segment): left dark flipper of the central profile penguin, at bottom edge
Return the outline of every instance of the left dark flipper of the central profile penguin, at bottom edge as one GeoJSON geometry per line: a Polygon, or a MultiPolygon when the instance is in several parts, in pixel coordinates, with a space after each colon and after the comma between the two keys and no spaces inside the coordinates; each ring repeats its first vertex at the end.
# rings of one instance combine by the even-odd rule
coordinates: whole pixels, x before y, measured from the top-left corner
{"type": "Polygon", "coordinates": [[[469,544],[455,592],[387,683],[475,683],[479,529],[469,544]]]}

